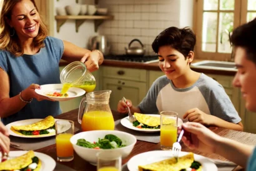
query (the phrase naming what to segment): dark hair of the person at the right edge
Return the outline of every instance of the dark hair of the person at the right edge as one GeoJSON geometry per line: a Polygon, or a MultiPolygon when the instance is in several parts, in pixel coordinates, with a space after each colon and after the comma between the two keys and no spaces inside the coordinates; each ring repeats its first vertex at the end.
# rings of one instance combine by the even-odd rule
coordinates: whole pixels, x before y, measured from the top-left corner
{"type": "Polygon", "coordinates": [[[231,43],[234,47],[244,48],[247,59],[256,65],[256,18],[237,27],[232,33],[231,43]]]}

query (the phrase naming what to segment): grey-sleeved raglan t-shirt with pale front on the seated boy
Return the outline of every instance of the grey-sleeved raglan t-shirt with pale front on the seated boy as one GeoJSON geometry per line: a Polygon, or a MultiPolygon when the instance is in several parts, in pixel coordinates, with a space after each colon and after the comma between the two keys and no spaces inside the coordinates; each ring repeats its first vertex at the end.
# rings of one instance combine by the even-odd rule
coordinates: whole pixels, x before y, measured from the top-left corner
{"type": "Polygon", "coordinates": [[[198,108],[228,122],[241,121],[224,88],[204,73],[189,88],[175,88],[165,75],[160,76],[138,107],[145,114],[175,111],[180,119],[189,109],[198,108]]]}

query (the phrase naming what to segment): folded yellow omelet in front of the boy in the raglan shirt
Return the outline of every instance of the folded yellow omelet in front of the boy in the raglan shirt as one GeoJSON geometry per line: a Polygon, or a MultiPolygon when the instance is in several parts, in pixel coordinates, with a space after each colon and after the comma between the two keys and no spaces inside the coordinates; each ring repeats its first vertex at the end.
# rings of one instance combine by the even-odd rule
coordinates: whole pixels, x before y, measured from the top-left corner
{"type": "MultiPolygon", "coordinates": [[[[160,117],[149,116],[147,114],[141,114],[141,113],[134,113],[134,116],[137,119],[137,121],[147,126],[155,127],[160,125],[160,117]]],[[[164,124],[171,124],[172,122],[174,123],[175,121],[173,119],[168,119],[168,118],[164,120],[164,124]]]]}

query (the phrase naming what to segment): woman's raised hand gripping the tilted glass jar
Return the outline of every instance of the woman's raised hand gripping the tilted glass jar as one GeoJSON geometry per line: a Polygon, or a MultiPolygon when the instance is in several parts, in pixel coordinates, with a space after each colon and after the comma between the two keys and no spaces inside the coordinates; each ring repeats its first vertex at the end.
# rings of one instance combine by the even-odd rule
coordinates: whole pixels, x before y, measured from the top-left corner
{"type": "Polygon", "coordinates": [[[81,58],[81,62],[86,64],[87,70],[94,72],[99,69],[99,60],[101,60],[101,53],[98,50],[87,52],[84,57],[81,58]]]}

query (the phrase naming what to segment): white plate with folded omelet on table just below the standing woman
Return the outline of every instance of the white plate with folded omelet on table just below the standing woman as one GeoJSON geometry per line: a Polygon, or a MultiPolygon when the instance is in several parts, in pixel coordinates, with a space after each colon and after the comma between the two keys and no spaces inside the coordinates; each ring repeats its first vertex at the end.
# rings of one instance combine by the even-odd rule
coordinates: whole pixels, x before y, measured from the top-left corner
{"type": "Polygon", "coordinates": [[[52,116],[47,116],[44,119],[26,119],[16,122],[11,122],[6,125],[11,136],[39,138],[55,136],[55,121],[52,116]]]}

